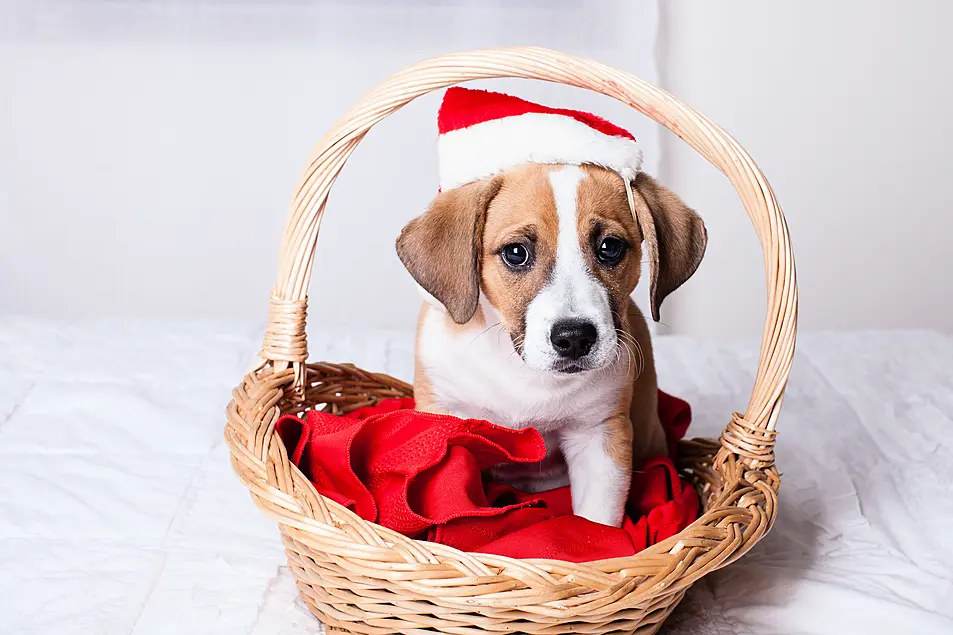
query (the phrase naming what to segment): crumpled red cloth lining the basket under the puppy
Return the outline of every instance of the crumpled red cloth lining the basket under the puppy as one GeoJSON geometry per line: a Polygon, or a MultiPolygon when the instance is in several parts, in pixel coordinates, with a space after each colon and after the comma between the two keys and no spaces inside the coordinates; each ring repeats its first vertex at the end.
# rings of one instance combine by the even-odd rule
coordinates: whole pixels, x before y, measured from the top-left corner
{"type": "MultiPolygon", "coordinates": [[[[668,457],[653,457],[633,473],[621,528],[573,516],[568,487],[527,494],[484,483],[483,471],[499,463],[542,460],[540,434],[417,412],[413,404],[389,399],[343,417],[285,415],[276,428],[323,496],[406,536],[464,551],[572,562],[629,556],[698,515],[695,490],[668,457]]],[[[674,455],[691,410],[659,392],[659,416],[674,455]]]]}

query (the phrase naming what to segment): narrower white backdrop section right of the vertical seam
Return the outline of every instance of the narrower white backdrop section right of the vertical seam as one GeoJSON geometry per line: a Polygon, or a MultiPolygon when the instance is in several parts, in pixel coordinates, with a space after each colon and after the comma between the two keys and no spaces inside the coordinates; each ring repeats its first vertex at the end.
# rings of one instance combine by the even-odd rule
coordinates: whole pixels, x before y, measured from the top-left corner
{"type": "MultiPolygon", "coordinates": [[[[664,2],[662,85],[729,130],[784,208],[800,326],[953,332],[953,2],[664,2]]],[[[764,268],[738,197],[667,133],[662,173],[698,205],[705,262],[679,332],[757,333],[764,268]]]]}

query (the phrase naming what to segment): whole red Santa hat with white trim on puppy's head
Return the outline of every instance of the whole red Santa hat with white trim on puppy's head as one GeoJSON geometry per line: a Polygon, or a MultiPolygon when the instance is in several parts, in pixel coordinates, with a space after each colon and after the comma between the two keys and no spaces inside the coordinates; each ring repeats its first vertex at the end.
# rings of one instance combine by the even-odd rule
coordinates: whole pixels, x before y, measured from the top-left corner
{"type": "Polygon", "coordinates": [[[626,183],[642,167],[642,151],[627,130],[587,112],[502,93],[450,88],[437,128],[441,190],[521,163],[593,164],[626,183]]]}

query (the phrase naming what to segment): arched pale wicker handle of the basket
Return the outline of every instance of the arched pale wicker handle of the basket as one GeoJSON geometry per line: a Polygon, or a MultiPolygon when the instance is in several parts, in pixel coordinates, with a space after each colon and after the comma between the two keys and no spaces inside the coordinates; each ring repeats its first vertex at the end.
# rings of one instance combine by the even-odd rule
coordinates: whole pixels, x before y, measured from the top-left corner
{"type": "Polygon", "coordinates": [[[271,295],[263,364],[294,367],[305,383],[307,290],[328,193],[364,135],[388,115],[433,90],[465,81],[519,77],[587,88],[628,104],[701,153],[734,185],[764,254],[768,306],[754,389],[744,415],[722,435],[725,450],[749,465],[774,462],[778,412],[794,357],[797,284],[790,236],[774,192],[748,153],[724,130],[665,91],[598,62],[543,48],[441,55],[392,75],[367,93],[318,143],[301,177],[285,227],[271,295]]]}

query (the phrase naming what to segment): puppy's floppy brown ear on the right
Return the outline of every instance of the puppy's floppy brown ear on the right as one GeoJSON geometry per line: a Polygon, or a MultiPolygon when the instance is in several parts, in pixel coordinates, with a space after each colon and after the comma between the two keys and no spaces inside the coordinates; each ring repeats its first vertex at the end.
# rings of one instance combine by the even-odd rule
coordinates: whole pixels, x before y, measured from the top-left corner
{"type": "Polygon", "coordinates": [[[705,255],[708,230],[701,217],[647,174],[635,177],[636,215],[652,265],[652,318],[669,293],[692,277],[705,255]]]}

